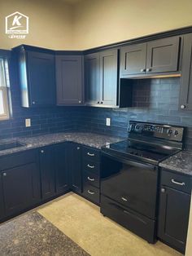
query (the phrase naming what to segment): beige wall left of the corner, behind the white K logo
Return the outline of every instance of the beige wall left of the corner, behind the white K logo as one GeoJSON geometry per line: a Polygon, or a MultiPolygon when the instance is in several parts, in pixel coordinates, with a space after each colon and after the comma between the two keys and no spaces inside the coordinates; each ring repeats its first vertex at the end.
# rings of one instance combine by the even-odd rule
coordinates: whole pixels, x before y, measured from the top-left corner
{"type": "Polygon", "coordinates": [[[0,0],[0,48],[20,44],[68,49],[72,42],[72,7],[60,0],[0,0]],[[29,17],[26,40],[5,34],[5,16],[20,11],[29,17]]]}

